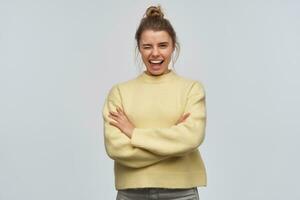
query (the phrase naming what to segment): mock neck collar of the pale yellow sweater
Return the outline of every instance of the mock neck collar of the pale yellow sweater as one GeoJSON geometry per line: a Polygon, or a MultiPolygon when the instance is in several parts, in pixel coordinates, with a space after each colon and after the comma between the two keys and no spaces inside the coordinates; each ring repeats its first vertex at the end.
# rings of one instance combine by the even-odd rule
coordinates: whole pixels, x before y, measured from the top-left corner
{"type": "Polygon", "coordinates": [[[149,75],[146,73],[146,70],[145,70],[145,71],[143,71],[142,74],[139,75],[138,78],[146,83],[163,83],[163,82],[171,81],[176,76],[177,76],[176,72],[172,69],[170,69],[170,71],[167,72],[166,74],[161,74],[158,76],[149,75]]]}

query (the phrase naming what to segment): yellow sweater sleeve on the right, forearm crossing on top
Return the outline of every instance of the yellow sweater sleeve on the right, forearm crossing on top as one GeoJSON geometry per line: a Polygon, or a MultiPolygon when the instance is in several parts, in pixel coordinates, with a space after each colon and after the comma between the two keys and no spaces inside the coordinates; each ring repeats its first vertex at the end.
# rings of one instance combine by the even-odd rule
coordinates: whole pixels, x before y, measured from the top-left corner
{"type": "Polygon", "coordinates": [[[203,142],[206,126],[205,90],[195,81],[187,96],[184,113],[190,116],[167,128],[135,128],[131,144],[161,156],[183,156],[196,150],[203,142]]]}

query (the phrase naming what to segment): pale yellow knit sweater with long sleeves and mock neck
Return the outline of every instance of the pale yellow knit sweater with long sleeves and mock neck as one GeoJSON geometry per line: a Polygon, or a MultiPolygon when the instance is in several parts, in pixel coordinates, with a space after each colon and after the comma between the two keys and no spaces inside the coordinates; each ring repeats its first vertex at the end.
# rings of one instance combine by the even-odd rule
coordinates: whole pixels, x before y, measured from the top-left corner
{"type": "Polygon", "coordinates": [[[114,160],[115,188],[190,188],[206,186],[199,152],[206,126],[205,91],[200,81],[171,70],[141,73],[112,86],[102,110],[104,143],[114,160]],[[119,106],[134,124],[131,139],[110,125],[119,106]],[[190,116],[177,125],[185,113],[190,116]]]}

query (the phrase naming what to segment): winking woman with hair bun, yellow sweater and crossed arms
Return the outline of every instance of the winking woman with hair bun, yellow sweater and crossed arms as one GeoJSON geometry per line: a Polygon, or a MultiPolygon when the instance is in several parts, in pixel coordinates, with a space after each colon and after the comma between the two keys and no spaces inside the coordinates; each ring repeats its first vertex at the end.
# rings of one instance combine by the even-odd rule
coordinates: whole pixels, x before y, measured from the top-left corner
{"type": "Polygon", "coordinates": [[[206,126],[204,86],[169,68],[179,45],[160,6],[146,10],[135,39],[146,70],[113,85],[102,111],[117,200],[197,200],[197,187],[207,184],[198,150],[206,126]]]}

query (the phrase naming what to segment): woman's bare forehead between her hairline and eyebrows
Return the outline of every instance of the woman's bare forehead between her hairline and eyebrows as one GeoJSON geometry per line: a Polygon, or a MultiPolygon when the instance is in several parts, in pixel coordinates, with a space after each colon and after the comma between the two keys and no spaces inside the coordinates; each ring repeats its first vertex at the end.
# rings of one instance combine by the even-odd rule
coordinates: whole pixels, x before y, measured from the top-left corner
{"type": "Polygon", "coordinates": [[[141,43],[171,42],[172,38],[166,31],[145,30],[141,35],[141,43]]]}

